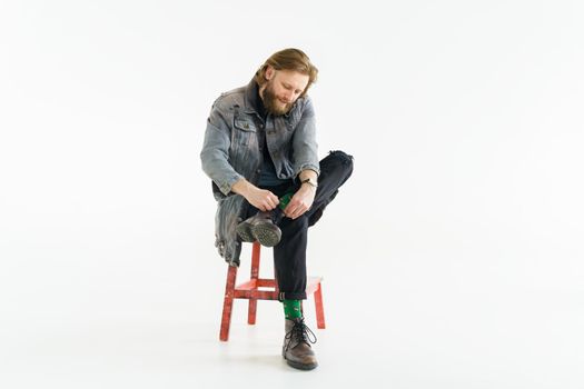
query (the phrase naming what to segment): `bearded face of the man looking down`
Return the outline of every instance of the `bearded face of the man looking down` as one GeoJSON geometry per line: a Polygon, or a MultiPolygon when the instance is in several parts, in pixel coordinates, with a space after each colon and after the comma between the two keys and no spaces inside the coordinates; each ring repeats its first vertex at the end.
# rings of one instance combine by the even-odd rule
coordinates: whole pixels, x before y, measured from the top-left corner
{"type": "Polygon", "coordinates": [[[293,70],[266,70],[266,82],[260,89],[266,110],[273,114],[287,113],[308,86],[308,76],[293,70]]]}

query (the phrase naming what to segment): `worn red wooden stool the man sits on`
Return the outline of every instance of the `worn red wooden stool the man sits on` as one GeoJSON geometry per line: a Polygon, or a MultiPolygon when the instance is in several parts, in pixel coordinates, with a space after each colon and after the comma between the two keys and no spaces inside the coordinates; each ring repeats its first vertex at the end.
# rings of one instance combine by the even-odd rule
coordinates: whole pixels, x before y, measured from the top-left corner
{"type": "MultiPolygon", "coordinates": [[[[237,267],[227,266],[227,282],[225,286],[224,312],[221,317],[221,331],[219,339],[229,339],[229,326],[231,325],[231,309],[234,299],[248,299],[247,323],[256,323],[256,310],[258,300],[278,300],[278,285],[273,278],[259,278],[259,251],[261,246],[254,242],[251,248],[251,277],[248,281],[235,286],[237,278],[237,267]],[[258,288],[269,288],[259,290],[258,288]]],[[[308,277],[306,282],[306,295],[315,296],[316,325],[319,329],[325,328],[325,311],[323,308],[323,289],[320,287],[321,277],[308,277]]]]}

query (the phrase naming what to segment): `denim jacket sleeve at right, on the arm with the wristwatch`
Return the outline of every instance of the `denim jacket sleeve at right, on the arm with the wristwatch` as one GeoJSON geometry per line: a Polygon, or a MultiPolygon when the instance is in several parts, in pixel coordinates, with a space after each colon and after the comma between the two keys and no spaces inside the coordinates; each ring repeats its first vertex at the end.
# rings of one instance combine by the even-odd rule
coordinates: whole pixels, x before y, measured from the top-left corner
{"type": "Polygon", "coordinates": [[[318,163],[318,144],[316,142],[316,120],[313,101],[306,97],[300,121],[296,126],[293,139],[294,172],[297,177],[303,170],[320,173],[318,163]]]}

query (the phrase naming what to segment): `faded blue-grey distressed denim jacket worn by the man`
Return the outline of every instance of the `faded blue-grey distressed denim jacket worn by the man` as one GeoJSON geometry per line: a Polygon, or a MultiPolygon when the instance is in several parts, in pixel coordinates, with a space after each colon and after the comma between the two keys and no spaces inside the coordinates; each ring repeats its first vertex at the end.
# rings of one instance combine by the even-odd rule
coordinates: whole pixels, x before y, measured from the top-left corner
{"type": "Polygon", "coordinates": [[[280,179],[295,179],[303,170],[319,173],[315,112],[305,96],[284,116],[268,114],[266,121],[257,112],[257,83],[222,93],[212,104],[200,153],[202,170],[212,180],[218,202],[215,216],[215,246],[229,265],[239,266],[241,242],[236,226],[249,206],[231,192],[241,178],[257,184],[263,166],[264,137],[276,173],[280,179]]]}

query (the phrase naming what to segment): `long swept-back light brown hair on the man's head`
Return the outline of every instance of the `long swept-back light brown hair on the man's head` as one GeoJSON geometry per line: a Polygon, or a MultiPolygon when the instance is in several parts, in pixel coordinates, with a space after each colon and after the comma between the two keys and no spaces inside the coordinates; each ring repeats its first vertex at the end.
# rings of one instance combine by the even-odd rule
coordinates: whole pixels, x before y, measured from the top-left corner
{"type": "Polygon", "coordinates": [[[300,74],[308,76],[308,83],[300,96],[305,96],[308,88],[316,82],[318,69],[310,62],[310,59],[301,50],[284,49],[271,54],[270,58],[256,71],[255,80],[259,87],[263,87],[266,80],[266,70],[268,67],[275,70],[294,70],[300,74]]]}

